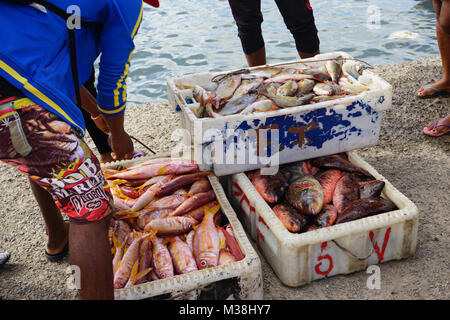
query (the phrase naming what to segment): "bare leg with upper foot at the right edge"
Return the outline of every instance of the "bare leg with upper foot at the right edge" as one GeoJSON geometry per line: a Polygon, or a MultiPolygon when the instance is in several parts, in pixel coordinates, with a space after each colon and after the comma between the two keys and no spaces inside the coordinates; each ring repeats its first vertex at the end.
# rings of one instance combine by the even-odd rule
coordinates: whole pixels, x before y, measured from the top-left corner
{"type": "MultiPolygon", "coordinates": [[[[436,11],[436,35],[441,53],[443,77],[438,82],[431,84],[431,87],[450,91],[450,30],[448,30],[450,25],[450,2],[433,0],[433,5],[436,11]]],[[[435,93],[433,89],[424,90],[423,87],[417,92],[419,96],[435,93]]]]}

